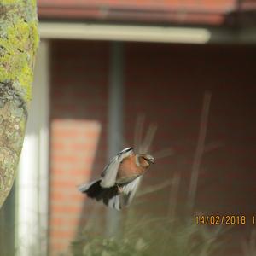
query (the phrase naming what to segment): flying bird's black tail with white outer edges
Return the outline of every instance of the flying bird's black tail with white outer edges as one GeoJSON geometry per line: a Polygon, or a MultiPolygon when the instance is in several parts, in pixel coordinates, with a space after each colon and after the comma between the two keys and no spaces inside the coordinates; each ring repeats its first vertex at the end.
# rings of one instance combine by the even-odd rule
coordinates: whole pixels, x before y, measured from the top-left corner
{"type": "Polygon", "coordinates": [[[111,188],[102,188],[101,179],[92,183],[84,184],[79,187],[79,191],[88,195],[90,198],[96,199],[96,201],[103,201],[107,206],[120,210],[121,205],[119,201],[119,189],[117,186],[111,188]]]}

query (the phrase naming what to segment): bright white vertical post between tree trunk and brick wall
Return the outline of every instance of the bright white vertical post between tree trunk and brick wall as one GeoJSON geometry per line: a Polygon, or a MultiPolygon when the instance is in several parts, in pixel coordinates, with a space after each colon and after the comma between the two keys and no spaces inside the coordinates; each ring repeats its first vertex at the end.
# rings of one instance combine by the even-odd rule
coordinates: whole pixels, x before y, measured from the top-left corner
{"type": "Polygon", "coordinates": [[[49,177],[49,41],[38,49],[26,137],[17,183],[16,249],[19,256],[47,253],[49,177]]]}

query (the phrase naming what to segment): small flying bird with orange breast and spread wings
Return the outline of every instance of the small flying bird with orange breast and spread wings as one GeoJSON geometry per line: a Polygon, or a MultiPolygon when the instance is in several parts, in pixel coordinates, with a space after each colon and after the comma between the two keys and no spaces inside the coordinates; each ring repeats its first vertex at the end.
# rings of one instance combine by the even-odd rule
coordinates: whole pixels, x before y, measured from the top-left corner
{"type": "Polygon", "coordinates": [[[133,148],[125,148],[108,163],[99,179],[81,185],[79,191],[108,207],[121,210],[129,206],[143,174],[154,157],[150,154],[135,154],[133,148]]]}

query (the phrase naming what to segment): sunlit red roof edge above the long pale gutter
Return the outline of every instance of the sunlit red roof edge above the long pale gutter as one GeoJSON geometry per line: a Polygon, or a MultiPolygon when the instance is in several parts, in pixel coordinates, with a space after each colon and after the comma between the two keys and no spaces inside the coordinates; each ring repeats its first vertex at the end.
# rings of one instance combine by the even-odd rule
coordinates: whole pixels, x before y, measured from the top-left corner
{"type": "Polygon", "coordinates": [[[234,10],[236,0],[38,0],[40,19],[220,25],[234,10]]]}

